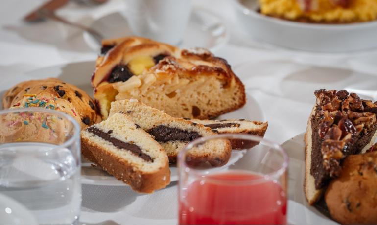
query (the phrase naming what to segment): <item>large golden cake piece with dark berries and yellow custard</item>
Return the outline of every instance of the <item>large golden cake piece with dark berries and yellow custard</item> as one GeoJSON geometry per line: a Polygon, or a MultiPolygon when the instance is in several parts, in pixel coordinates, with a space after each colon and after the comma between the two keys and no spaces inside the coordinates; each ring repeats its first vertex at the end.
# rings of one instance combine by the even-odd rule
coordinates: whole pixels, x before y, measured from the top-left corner
{"type": "Polygon", "coordinates": [[[242,107],[245,88],[226,60],[145,38],[103,41],[92,77],[105,119],[110,103],[135,98],[173,117],[208,119],[242,107]]]}

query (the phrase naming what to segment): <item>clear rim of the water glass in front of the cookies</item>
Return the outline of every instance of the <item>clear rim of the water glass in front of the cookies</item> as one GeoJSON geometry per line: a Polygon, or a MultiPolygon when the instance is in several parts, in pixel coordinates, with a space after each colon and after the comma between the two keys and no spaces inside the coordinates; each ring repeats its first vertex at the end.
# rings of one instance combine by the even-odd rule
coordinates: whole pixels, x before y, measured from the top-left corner
{"type": "MultiPolygon", "coordinates": [[[[70,137],[70,139],[64,141],[64,143],[56,145],[56,147],[54,147],[52,149],[62,148],[62,147],[68,148],[68,146],[72,145],[76,139],[78,139],[78,140],[80,139],[80,132],[81,132],[80,125],[77,123],[77,121],[72,116],[70,116],[69,114],[64,113],[64,112],[60,112],[60,111],[52,110],[52,109],[42,109],[42,108],[30,107],[30,108],[3,109],[3,110],[0,110],[0,115],[15,113],[15,112],[30,112],[30,111],[57,114],[61,117],[66,118],[68,121],[70,121],[73,124],[73,130],[75,130],[75,134],[73,134],[70,137]]],[[[10,143],[22,143],[22,142],[0,143],[0,145],[10,144],[10,143]]]]}

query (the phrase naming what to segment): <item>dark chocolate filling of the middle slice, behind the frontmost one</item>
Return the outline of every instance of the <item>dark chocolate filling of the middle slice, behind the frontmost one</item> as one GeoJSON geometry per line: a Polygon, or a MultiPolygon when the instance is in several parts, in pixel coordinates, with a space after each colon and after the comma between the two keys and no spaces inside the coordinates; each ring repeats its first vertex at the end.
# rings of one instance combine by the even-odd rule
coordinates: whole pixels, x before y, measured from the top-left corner
{"type": "Polygon", "coordinates": [[[198,137],[202,137],[195,131],[185,131],[178,128],[166,127],[164,125],[159,125],[146,132],[154,136],[154,139],[159,142],[193,141],[198,137]]]}

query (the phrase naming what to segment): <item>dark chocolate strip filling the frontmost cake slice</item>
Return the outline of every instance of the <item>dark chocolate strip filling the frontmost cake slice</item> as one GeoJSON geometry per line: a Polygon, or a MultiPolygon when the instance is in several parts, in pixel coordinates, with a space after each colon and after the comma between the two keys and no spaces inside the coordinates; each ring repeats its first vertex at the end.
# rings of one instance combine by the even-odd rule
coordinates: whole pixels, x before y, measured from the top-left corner
{"type": "Polygon", "coordinates": [[[137,146],[136,144],[127,143],[127,142],[124,142],[124,141],[121,141],[117,138],[112,137],[110,135],[112,133],[110,131],[112,131],[112,130],[109,131],[110,134],[103,132],[96,127],[90,127],[90,128],[87,129],[87,131],[96,135],[96,136],[99,136],[100,138],[102,138],[104,140],[111,142],[118,149],[128,150],[132,154],[134,154],[135,156],[138,156],[138,157],[144,159],[147,162],[153,162],[153,159],[150,156],[148,156],[147,154],[143,153],[141,151],[141,148],[139,146],[137,146]]]}

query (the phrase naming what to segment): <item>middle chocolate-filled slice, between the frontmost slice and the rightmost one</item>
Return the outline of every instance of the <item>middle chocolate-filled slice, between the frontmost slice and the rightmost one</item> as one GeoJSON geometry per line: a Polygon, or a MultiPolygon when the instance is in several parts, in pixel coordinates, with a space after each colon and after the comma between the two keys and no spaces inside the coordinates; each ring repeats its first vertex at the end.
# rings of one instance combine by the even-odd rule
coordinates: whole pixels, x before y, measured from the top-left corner
{"type": "MultiPolygon", "coordinates": [[[[178,153],[190,141],[199,137],[216,135],[211,128],[171,117],[136,99],[111,103],[110,116],[118,112],[129,116],[134,123],[152,135],[164,148],[170,163],[176,162],[178,153]]],[[[192,150],[189,155],[192,164],[209,162],[212,166],[221,166],[228,162],[231,151],[231,144],[228,140],[218,139],[206,142],[200,149],[192,150]]]]}

